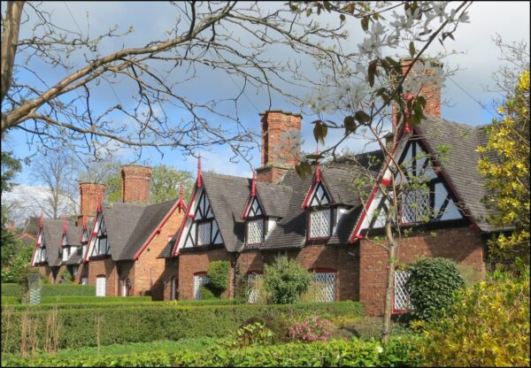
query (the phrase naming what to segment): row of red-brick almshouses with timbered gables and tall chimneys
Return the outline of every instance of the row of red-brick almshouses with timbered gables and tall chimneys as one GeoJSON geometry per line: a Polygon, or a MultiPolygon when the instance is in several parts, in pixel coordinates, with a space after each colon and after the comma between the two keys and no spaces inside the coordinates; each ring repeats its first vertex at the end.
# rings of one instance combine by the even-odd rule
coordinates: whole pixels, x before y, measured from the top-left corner
{"type": "MultiPolygon", "coordinates": [[[[494,229],[484,221],[485,189],[475,149],[487,135],[484,127],[441,119],[440,93],[436,86],[423,87],[427,119],[394,132],[396,160],[407,163],[410,175],[422,171],[429,186],[428,192],[402,197],[399,221],[412,234],[402,237],[399,265],[446,257],[484,272],[485,240],[494,229]],[[443,146],[450,149],[439,160],[436,152],[443,146]]],[[[150,168],[143,166],[123,167],[123,203],[98,204],[104,187],[81,183],[78,226],[42,220],[32,265],[52,282],[62,268],[75,267],[76,280],[96,285],[98,295],[149,291],[154,300],[169,300],[200,298],[212,261],[230,262],[225,296],[233,297],[238,282],[260,278],[266,263],[286,255],[314,272],[322,286],[319,301],[355,300],[367,314],[381,314],[387,253],[366,235],[369,228],[371,235],[382,231],[380,186],[389,183],[389,168],[371,167],[373,186],[366,188],[365,204],[351,188],[359,170],[351,159],[369,167],[374,158],[381,163],[380,151],[320,164],[301,180],[293,169],[297,156],[286,144],[299,133],[301,119],[284,111],[260,114],[256,177],[202,173],[199,164],[188,206],[182,196],[146,205],[150,168]]],[[[396,272],[395,311],[404,309],[406,277],[396,272]]]]}

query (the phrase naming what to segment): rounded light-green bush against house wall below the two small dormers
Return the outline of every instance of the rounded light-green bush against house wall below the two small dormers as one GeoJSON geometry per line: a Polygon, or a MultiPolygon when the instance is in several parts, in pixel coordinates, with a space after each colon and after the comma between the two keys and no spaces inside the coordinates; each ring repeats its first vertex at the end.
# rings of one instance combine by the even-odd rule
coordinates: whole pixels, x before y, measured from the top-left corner
{"type": "Polygon", "coordinates": [[[288,257],[277,257],[273,265],[265,265],[264,283],[275,304],[296,303],[308,290],[312,275],[288,257]]]}

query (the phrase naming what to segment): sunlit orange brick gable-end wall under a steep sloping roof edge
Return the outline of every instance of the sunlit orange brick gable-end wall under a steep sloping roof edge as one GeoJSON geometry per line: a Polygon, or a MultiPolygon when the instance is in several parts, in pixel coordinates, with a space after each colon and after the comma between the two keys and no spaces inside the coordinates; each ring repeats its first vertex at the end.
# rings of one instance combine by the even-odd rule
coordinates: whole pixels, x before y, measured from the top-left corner
{"type": "Polygon", "coordinates": [[[165,259],[158,258],[158,255],[168,243],[168,238],[171,238],[175,229],[181,225],[185,214],[185,211],[179,209],[174,211],[160,229],[160,234],[155,235],[135,262],[135,295],[150,292],[153,300],[164,299],[165,259]]]}

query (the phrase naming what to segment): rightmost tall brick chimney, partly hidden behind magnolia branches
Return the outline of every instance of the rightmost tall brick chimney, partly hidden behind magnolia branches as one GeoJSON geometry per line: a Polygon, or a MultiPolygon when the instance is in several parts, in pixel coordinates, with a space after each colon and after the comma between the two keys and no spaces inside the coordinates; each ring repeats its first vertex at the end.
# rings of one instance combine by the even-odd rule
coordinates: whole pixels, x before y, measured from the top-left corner
{"type": "MultiPolygon", "coordinates": [[[[412,58],[403,58],[400,60],[401,73],[397,76],[402,78],[410,65],[412,65],[412,58]]],[[[427,117],[441,118],[441,80],[438,77],[438,73],[442,72],[443,65],[436,64],[427,60],[417,60],[417,65],[423,66],[423,72],[427,77],[427,82],[420,85],[419,95],[426,98],[426,106],[424,107],[424,115],[427,117]],[[431,64],[427,64],[431,63],[431,64]]],[[[407,79],[416,78],[415,67],[408,74],[407,79]]],[[[416,94],[418,91],[410,91],[404,88],[404,99],[416,94]]],[[[396,105],[393,105],[393,126],[396,126],[397,109],[396,105]]]]}

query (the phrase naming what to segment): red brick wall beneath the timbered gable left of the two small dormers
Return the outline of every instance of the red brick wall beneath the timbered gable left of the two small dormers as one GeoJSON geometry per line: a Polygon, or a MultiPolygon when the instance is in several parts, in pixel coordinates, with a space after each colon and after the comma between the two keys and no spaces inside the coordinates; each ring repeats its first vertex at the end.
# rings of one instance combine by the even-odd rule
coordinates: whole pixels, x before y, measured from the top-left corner
{"type": "MultiPolygon", "coordinates": [[[[220,260],[234,262],[233,257],[225,248],[181,254],[179,256],[179,298],[194,299],[194,275],[197,272],[207,272],[211,262],[220,260]]],[[[234,266],[230,267],[229,280],[234,280],[234,266]]],[[[229,282],[229,288],[222,296],[234,296],[233,282],[229,282]]]]}

